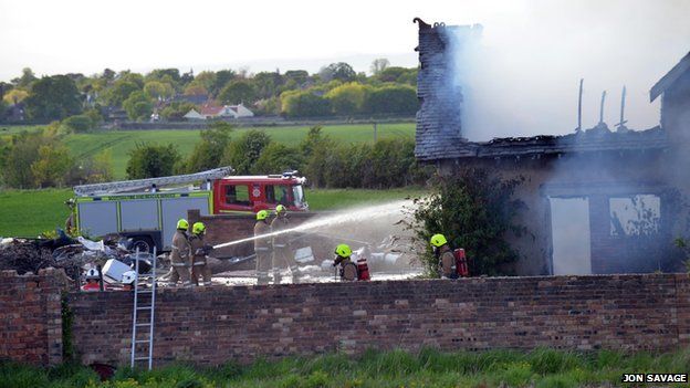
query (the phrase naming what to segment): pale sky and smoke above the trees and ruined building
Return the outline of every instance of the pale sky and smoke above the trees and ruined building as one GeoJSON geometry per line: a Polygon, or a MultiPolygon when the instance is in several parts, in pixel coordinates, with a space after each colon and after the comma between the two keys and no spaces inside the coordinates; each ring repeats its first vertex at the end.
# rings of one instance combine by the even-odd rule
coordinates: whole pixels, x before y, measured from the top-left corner
{"type": "Polygon", "coordinates": [[[555,132],[572,130],[584,77],[586,126],[598,120],[604,90],[607,122],[616,120],[626,84],[628,125],[644,128],[658,122],[649,88],[690,51],[689,15],[690,0],[0,0],[0,80],[27,66],[39,75],[105,67],[316,72],[336,61],[368,71],[376,57],[415,66],[419,17],[483,25],[478,63],[485,69],[472,86],[478,101],[503,98],[478,113],[521,117],[511,124],[501,115],[494,127],[530,126],[516,129],[530,135],[558,122],[555,132]],[[554,114],[530,119],[544,111],[554,114]]]}

